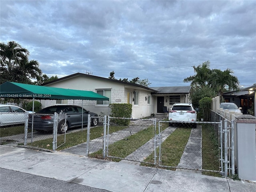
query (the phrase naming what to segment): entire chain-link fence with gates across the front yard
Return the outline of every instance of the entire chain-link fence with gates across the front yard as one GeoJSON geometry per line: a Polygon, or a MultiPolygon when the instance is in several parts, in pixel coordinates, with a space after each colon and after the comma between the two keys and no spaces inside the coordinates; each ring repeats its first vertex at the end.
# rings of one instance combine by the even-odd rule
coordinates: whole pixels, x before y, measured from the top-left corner
{"type": "MultiPolygon", "coordinates": [[[[6,113],[8,115],[8,113],[6,113]]],[[[2,125],[1,144],[16,142],[52,150],[77,145],[79,137],[85,156],[117,162],[152,164],[172,170],[218,172],[234,175],[234,121],[212,112],[212,122],[172,122],[152,119],[98,117],[98,126],[65,130],[65,115],[46,115],[49,130],[39,128],[35,114],[22,114],[22,122],[2,125]],[[32,117],[34,123],[32,126],[32,117]],[[128,125],[120,125],[120,121],[128,125]],[[25,123],[26,122],[26,123],[25,123]],[[195,124],[197,126],[195,127],[195,124]],[[24,132],[25,130],[25,132],[24,132]]],[[[1,115],[1,122],[4,115],[1,115]]],[[[122,124],[122,123],[121,123],[122,124]]]]}

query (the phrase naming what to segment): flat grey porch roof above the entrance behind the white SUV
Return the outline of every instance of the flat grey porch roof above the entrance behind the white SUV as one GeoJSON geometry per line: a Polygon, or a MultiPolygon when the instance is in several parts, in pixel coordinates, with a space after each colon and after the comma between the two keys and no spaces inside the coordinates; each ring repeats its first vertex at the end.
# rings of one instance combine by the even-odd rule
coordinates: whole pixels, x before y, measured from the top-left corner
{"type": "Polygon", "coordinates": [[[151,87],[157,92],[153,94],[188,94],[191,86],[173,86],[173,87],[151,87]]]}

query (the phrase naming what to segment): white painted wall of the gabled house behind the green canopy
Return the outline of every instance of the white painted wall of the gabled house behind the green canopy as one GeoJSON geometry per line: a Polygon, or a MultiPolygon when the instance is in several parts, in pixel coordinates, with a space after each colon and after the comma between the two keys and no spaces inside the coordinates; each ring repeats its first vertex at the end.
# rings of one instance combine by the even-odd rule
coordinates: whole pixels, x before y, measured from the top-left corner
{"type": "MultiPolygon", "coordinates": [[[[91,78],[86,76],[75,76],[62,81],[57,81],[47,86],[66,88],[66,89],[76,89],[76,90],[86,90],[97,92],[97,90],[111,90],[111,101],[110,103],[130,103],[132,104],[132,117],[142,118],[150,116],[154,113],[155,97],[151,96],[150,90],[136,90],[134,88],[125,88],[125,85],[119,82],[113,82],[108,80],[102,80],[101,78],[91,78]],[[134,105],[132,98],[134,98],[134,90],[139,93],[138,105],[134,105]],[[150,104],[145,98],[151,97],[150,104]]],[[[42,100],[42,108],[56,105],[56,100],[42,100]]],[[[66,103],[65,103],[66,104],[66,103]]],[[[97,104],[96,101],[92,100],[68,100],[68,104],[83,106],[89,111],[97,113],[99,116],[104,116],[110,114],[110,109],[108,104],[97,104]]]]}

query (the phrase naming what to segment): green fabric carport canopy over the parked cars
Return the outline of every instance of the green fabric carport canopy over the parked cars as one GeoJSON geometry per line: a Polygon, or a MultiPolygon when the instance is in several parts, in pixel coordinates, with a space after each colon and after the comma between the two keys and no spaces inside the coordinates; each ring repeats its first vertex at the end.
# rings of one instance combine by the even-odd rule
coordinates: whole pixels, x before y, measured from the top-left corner
{"type": "Polygon", "coordinates": [[[109,98],[92,91],[55,88],[14,82],[4,82],[0,85],[0,97],[24,99],[109,100],[109,98]]]}

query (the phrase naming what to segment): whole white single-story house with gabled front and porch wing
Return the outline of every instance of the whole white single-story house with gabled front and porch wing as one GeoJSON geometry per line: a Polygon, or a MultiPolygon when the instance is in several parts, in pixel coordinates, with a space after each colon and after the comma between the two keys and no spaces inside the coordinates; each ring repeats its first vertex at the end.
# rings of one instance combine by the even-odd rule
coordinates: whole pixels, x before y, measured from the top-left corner
{"type": "Polygon", "coordinates": [[[108,115],[110,103],[132,104],[132,118],[143,118],[152,113],[163,113],[175,102],[189,102],[191,86],[148,88],[139,84],[112,80],[88,74],[76,73],[51,82],[44,86],[93,91],[110,98],[110,101],[87,100],[42,100],[42,107],[56,104],[74,104],[100,116],[108,115]]]}

